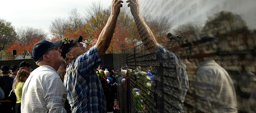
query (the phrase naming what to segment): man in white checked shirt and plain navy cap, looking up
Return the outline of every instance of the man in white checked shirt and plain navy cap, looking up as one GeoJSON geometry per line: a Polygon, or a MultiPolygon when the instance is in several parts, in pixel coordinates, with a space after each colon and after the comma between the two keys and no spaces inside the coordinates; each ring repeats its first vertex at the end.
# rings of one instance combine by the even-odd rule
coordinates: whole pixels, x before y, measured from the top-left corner
{"type": "Polygon", "coordinates": [[[64,102],[67,90],[57,73],[64,61],[59,49],[61,44],[61,40],[53,43],[41,40],[32,48],[31,57],[39,67],[30,74],[23,86],[22,113],[66,113],[64,102]]]}

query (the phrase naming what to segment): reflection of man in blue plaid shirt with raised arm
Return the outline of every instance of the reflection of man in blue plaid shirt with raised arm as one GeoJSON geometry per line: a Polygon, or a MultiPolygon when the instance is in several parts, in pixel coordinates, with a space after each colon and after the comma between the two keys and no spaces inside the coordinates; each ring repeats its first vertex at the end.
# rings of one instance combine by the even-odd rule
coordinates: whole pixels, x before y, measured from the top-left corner
{"type": "Polygon", "coordinates": [[[151,86],[146,109],[154,113],[184,112],[183,101],[188,89],[188,76],[183,60],[156,42],[155,36],[146,25],[140,13],[138,0],[128,0],[141,41],[159,63],[151,86]]]}

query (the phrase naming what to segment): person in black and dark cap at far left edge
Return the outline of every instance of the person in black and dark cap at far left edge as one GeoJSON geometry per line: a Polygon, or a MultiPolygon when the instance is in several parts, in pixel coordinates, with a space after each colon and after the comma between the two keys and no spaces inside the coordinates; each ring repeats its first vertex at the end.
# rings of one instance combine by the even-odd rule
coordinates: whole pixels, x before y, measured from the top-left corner
{"type": "Polygon", "coordinates": [[[3,89],[5,93],[5,98],[0,99],[0,112],[1,113],[11,113],[12,112],[12,98],[8,97],[10,91],[12,90],[12,82],[13,78],[9,77],[9,66],[4,65],[1,67],[1,73],[0,76],[0,87],[3,89]]]}

